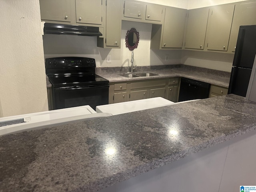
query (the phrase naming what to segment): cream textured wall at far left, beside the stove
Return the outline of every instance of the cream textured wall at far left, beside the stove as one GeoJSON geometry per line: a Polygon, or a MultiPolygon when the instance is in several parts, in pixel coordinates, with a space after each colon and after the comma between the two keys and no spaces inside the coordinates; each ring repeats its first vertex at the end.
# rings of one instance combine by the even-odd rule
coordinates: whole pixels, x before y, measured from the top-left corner
{"type": "Polygon", "coordinates": [[[39,0],[0,0],[0,115],[48,110],[39,0]]]}

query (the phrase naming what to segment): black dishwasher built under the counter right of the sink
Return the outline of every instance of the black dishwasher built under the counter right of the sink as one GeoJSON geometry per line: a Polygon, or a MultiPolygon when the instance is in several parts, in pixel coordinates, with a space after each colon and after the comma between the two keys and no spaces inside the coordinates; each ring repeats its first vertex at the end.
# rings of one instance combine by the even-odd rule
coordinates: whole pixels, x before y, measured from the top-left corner
{"type": "Polygon", "coordinates": [[[180,94],[178,101],[208,98],[210,85],[211,84],[209,83],[182,77],[180,80],[180,94]]]}

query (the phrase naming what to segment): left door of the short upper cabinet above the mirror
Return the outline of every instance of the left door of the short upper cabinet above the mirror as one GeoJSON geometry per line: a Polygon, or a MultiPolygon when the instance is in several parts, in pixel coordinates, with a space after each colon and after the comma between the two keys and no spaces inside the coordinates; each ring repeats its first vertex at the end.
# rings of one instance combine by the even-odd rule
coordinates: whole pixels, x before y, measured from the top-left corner
{"type": "MultiPolygon", "coordinates": [[[[124,2],[124,17],[142,19],[143,4],[141,2],[124,2]]],[[[145,13],[145,12],[144,12],[145,13]]]]}

